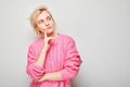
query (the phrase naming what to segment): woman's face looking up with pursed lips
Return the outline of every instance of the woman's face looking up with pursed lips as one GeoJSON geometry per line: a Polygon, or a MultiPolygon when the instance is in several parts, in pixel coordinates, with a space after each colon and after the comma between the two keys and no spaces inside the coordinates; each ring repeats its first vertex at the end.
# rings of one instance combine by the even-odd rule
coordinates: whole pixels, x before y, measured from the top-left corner
{"type": "Polygon", "coordinates": [[[54,33],[55,23],[48,11],[42,11],[41,14],[38,15],[36,21],[39,30],[42,32],[42,34],[44,33],[44,30],[47,30],[47,34],[49,36],[51,36],[54,33]]]}

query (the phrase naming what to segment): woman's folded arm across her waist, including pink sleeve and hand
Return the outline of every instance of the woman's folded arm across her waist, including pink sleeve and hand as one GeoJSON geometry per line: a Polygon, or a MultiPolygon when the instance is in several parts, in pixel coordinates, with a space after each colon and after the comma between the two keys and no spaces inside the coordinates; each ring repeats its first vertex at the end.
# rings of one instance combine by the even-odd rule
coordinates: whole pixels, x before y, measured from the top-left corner
{"type": "Polygon", "coordinates": [[[64,79],[74,78],[78,74],[81,62],[82,61],[76,49],[75,41],[70,39],[66,45],[66,57],[64,62],[64,69],[57,72],[47,73],[38,82],[64,80],[64,79]]]}

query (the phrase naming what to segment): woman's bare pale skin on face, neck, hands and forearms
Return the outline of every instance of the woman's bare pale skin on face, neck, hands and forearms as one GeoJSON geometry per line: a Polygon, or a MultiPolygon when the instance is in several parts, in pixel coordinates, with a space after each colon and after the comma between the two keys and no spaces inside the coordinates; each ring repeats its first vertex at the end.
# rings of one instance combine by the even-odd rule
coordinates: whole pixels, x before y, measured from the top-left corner
{"type": "MultiPolygon", "coordinates": [[[[39,55],[39,59],[35,62],[37,66],[43,66],[46,62],[46,55],[50,48],[51,40],[53,40],[57,34],[54,33],[55,24],[52,16],[48,11],[42,11],[41,14],[37,17],[39,30],[43,33],[44,46],[39,55]]],[[[60,71],[46,73],[42,77],[36,80],[36,83],[44,82],[44,80],[62,80],[62,74],[60,71]]]]}

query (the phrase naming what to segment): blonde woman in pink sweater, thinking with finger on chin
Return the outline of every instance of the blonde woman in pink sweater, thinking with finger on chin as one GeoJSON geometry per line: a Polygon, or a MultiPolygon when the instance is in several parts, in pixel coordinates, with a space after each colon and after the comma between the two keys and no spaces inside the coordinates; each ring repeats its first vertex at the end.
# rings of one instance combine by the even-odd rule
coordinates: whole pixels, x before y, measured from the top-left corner
{"type": "Polygon", "coordinates": [[[81,64],[74,39],[55,32],[54,18],[46,7],[31,13],[30,24],[40,36],[28,48],[30,87],[70,87],[81,64]]]}

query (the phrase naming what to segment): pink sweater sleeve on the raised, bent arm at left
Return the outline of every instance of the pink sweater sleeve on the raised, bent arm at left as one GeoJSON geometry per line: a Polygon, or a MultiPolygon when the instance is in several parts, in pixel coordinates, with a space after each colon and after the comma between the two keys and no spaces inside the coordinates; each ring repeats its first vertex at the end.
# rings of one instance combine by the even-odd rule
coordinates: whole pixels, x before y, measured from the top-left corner
{"type": "Polygon", "coordinates": [[[27,54],[27,66],[26,66],[26,72],[27,74],[32,78],[32,79],[38,79],[44,74],[44,69],[40,66],[36,66],[34,63],[38,59],[38,54],[36,54],[35,50],[32,47],[29,47],[28,49],[28,54],[27,54]]]}

